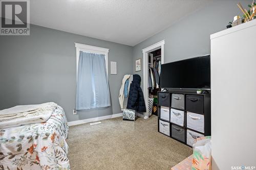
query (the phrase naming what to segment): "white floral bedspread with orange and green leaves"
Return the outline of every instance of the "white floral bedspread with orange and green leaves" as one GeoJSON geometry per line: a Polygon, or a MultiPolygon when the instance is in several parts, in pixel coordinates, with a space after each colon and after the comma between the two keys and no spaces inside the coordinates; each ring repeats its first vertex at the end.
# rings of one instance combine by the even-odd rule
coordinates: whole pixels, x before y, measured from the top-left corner
{"type": "Polygon", "coordinates": [[[45,123],[0,129],[0,170],[70,169],[68,122],[58,106],[45,123]]]}

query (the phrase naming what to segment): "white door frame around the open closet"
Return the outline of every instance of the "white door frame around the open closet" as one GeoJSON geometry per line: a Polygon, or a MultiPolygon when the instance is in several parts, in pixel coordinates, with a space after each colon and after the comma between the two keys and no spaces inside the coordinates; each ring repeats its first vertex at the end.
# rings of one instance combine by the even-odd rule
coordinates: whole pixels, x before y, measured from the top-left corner
{"type": "Polygon", "coordinates": [[[148,118],[148,53],[153,52],[161,48],[161,64],[164,63],[164,44],[165,40],[159,41],[151,46],[142,49],[143,53],[143,94],[146,105],[146,112],[144,112],[143,118],[148,118]]]}

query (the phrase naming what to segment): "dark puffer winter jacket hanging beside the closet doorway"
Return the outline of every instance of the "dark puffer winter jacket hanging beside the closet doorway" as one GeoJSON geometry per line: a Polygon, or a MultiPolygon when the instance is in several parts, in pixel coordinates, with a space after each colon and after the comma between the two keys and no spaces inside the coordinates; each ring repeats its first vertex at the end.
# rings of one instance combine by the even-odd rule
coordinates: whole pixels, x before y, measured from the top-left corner
{"type": "Polygon", "coordinates": [[[139,112],[146,112],[144,95],[140,87],[141,78],[139,75],[133,75],[133,81],[130,85],[127,109],[133,109],[139,112]]]}

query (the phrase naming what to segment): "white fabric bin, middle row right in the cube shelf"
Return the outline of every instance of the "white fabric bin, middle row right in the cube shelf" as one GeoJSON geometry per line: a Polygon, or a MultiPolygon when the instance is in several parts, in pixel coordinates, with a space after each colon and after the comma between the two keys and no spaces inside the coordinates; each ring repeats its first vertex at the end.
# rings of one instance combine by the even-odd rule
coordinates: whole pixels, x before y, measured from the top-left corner
{"type": "Polygon", "coordinates": [[[187,112],[187,128],[204,133],[204,115],[187,112]]]}

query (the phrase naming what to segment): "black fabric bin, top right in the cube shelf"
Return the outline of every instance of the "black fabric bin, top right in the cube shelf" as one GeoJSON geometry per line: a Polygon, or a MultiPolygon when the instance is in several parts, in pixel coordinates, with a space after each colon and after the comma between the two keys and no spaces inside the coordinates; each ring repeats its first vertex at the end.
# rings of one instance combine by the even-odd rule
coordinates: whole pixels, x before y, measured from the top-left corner
{"type": "Polygon", "coordinates": [[[186,110],[204,113],[204,97],[202,95],[186,95],[186,110]]]}

